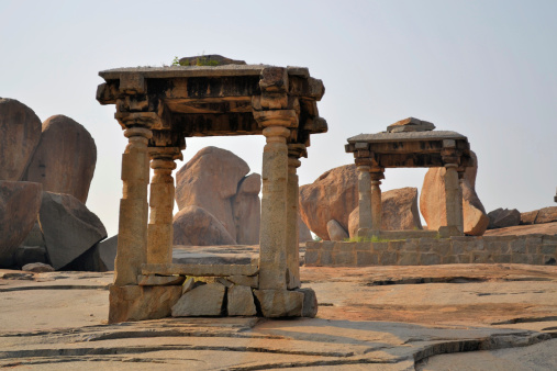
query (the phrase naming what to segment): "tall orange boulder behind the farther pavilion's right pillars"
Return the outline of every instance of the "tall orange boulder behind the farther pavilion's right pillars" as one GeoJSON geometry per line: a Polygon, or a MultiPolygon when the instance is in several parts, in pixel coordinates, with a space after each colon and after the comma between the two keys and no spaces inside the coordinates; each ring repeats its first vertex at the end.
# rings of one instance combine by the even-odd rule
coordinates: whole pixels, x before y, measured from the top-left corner
{"type": "MultiPolygon", "coordinates": [[[[466,169],[463,180],[464,232],[467,235],[481,236],[488,227],[489,217],[476,194],[478,159],[474,153],[471,153],[471,157],[475,166],[466,169]]],[[[445,168],[431,168],[424,177],[420,196],[420,211],[428,229],[438,229],[439,226],[447,223],[444,176],[445,168]]]]}

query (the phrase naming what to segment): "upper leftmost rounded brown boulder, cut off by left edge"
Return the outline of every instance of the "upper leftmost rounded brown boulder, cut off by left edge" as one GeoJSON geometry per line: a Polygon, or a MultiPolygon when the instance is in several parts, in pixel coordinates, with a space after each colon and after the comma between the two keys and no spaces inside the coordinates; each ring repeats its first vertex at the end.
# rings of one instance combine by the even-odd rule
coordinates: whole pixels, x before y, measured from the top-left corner
{"type": "Polygon", "coordinates": [[[19,181],[41,139],[41,120],[25,104],[0,98],[0,180],[19,181]]]}

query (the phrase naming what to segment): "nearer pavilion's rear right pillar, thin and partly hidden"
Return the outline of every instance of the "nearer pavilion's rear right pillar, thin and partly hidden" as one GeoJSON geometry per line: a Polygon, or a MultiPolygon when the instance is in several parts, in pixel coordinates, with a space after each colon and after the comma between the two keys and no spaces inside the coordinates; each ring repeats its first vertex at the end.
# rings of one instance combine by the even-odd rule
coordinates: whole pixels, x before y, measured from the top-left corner
{"type": "Polygon", "coordinates": [[[288,145],[288,184],[287,184],[287,288],[300,288],[300,240],[298,226],[299,183],[296,169],[299,158],[305,153],[303,144],[288,145]]]}

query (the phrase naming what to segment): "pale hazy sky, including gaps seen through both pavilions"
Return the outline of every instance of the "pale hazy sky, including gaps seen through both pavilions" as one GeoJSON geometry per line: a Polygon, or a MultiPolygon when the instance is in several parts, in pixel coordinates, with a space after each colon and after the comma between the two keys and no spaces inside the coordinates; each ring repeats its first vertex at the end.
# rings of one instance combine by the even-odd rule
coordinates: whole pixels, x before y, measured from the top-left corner
{"type": "MultiPolygon", "coordinates": [[[[65,114],[97,144],[88,207],[116,233],[126,140],[100,105],[100,70],[221,54],[304,66],[323,80],[328,133],[311,138],[300,183],[353,162],[346,138],[408,116],[468,136],[487,211],[554,205],[557,1],[0,0],[0,97],[42,121],[65,114]]],[[[261,168],[263,137],[187,139],[185,162],[219,146],[261,168]]],[[[181,167],[185,162],[178,162],[181,167]]],[[[421,188],[425,169],[388,169],[382,190],[421,188]]]]}

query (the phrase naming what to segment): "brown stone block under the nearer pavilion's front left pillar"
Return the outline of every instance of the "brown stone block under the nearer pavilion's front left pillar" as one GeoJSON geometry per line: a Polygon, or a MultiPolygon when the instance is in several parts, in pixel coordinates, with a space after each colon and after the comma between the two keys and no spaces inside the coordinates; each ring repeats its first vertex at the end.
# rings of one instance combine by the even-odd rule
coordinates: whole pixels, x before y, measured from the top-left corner
{"type": "Polygon", "coordinates": [[[126,321],[157,319],[170,316],[180,299],[181,286],[111,285],[109,324],[126,321]]]}

